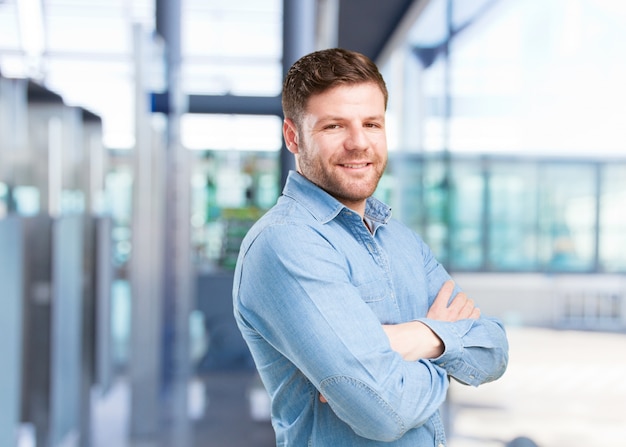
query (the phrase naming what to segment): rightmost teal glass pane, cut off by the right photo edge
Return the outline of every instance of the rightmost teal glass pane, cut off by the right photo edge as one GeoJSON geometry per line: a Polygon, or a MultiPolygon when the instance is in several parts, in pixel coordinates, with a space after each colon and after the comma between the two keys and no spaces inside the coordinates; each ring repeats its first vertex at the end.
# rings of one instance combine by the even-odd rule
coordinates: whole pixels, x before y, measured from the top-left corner
{"type": "Polygon", "coordinates": [[[626,272],[626,164],[605,166],[600,197],[600,266],[626,272]]]}

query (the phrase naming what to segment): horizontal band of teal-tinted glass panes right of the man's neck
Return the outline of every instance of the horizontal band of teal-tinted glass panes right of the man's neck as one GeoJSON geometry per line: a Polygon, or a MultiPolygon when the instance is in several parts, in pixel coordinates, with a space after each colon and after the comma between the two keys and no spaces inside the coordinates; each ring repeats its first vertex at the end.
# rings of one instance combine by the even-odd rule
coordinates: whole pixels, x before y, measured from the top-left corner
{"type": "Polygon", "coordinates": [[[626,272],[626,160],[392,153],[389,165],[394,216],[450,270],[626,272]]]}

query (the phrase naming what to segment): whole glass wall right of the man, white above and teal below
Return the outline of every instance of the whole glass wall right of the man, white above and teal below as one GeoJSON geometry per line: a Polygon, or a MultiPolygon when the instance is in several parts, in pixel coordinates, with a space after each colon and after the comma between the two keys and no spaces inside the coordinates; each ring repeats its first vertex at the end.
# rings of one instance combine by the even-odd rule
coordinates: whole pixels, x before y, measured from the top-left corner
{"type": "Polygon", "coordinates": [[[451,270],[624,272],[626,6],[432,0],[381,68],[391,205],[451,270]]]}

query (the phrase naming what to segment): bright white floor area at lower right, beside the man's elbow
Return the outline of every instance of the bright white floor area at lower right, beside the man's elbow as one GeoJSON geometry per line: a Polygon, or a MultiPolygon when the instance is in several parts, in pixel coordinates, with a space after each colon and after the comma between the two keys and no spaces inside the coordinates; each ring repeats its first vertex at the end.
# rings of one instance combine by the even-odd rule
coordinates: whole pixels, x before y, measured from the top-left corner
{"type": "Polygon", "coordinates": [[[454,385],[449,447],[626,445],[626,334],[508,329],[509,368],[478,388],[454,385]]]}

